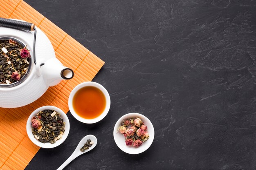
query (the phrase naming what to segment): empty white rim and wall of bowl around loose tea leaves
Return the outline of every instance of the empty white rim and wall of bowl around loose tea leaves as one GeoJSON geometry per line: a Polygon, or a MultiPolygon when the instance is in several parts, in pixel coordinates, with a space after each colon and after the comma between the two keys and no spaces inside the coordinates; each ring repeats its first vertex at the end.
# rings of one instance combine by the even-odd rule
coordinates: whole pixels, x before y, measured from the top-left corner
{"type": "Polygon", "coordinates": [[[37,108],[33,113],[31,113],[31,115],[27,119],[27,135],[29,136],[29,139],[34,144],[36,144],[37,146],[40,146],[41,148],[54,148],[56,146],[59,146],[60,144],[63,143],[63,141],[65,141],[69,132],[70,132],[70,121],[68,120],[67,115],[60,108],[57,108],[55,106],[43,106],[43,107],[37,108]],[[49,142],[48,143],[42,143],[42,142],[36,140],[36,138],[32,134],[31,119],[32,119],[32,117],[36,116],[39,111],[43,111],[43,110],[54,110],[54,111],[56,111],[57,113],[59,113],[61,115],[63,121],[65,122],[65,132],[63,133],[62,138],[58,139],[54,144],[51,144],[49,142]]]}

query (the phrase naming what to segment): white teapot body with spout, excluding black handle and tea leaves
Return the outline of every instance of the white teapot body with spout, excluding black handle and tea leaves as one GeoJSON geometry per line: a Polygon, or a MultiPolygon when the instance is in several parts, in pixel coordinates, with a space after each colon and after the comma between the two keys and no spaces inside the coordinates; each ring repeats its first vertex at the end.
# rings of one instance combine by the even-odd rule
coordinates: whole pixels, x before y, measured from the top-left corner
{"type": "Polygon", "coordinates": [[[30,70],[26,77],[16,85],[0,85],[0,107],[2,108],[16,108],[30,104],[41,97],[49,86],[55,86],[61,80],[71,79],[74,76],[72,69],[63,66],[56,59],[52,44],[43,31],[38,28],[36,30],[36,64],[34,64],[32,57],[34,31],[0,26],[0,38],[9,37],[18,40],[27,45],[31,54],[30,70]],[[40,66],[41,63],[44,65],[40,66]]]}

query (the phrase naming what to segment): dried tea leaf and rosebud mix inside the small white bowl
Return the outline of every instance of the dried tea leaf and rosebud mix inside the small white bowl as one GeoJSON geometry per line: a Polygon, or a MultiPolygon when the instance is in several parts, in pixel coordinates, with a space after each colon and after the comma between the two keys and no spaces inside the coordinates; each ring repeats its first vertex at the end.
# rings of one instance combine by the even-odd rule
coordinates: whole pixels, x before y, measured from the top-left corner
{"type": "Polygon", "coordinates": [[[65,122],[54,110],[40,111],[36,117],[32,117],[31,125],[34,137],[42,143],[54,144],[65,131],[65,122]]]}

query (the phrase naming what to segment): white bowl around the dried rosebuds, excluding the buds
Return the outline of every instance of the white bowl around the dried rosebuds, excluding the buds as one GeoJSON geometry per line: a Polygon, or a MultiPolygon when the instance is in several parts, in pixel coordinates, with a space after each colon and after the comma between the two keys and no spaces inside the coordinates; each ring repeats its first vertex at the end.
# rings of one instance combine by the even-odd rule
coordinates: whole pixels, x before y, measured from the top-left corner
{"type": "Polygon", "coordinates": [[[146,116],[141,115],[139,113],[128,113],[128,114],[120,117],[120,119],[118,119],[118,121],[114,127],[113,135],[114,135],[114,140],[115,140],[117,146],[121,150],[123,150],[124,152],[129,153],[129,154],[139,154],[141,152],[144,152],[145,150],[147,150],[150,147],[150,145],[152,144],[152,142],[154,140],[155,131],[154,131],[153,124],[146,116]],[[138,148],[133,147],[133,146],[126,146],[125,137],[118,130],[118,128],[121,126],[121,123],[123,122],[123,120],[130,119],[130,118],[134,119],[136,117],[139,117],[141,119],[141,121],[144,122],[144,125],[148,127],[147,130],[148,130],[148,135],[149,135],[148,140],[143,142],[141,144],[141,146],[139,146],[138,148]]]}

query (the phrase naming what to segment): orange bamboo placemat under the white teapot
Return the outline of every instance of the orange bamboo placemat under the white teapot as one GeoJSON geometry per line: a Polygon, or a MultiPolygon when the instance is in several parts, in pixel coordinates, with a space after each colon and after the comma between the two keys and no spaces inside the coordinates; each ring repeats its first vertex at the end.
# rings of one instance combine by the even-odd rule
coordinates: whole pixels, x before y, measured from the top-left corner
{"type": "Polygon", "coordinates": [[[21,170],[39,150],[27,137],[26,122],[30,113],[45,105],[57,106],[67,113],[70,91],[81,82],[91,81],[104,62],[23,0],[1,0],[0,17],[36,24],[52,42],[56,57],[75,73],[73,79],[50,87],[32,104],[21,108],[0,108],[0,169],[21,170]],[[72,60],[69,56],[73,56],[72,60]]]}

